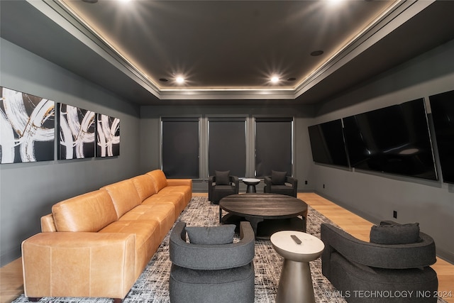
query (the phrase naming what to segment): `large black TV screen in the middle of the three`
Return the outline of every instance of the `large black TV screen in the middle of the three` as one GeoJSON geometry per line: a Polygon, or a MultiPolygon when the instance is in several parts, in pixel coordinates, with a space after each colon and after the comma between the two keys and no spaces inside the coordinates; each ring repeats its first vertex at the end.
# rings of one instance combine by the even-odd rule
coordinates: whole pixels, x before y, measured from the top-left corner
{"type": "Polygon", "coordinates": [[[438,180],[423,99],[343,119],[350,166],[438,180]]]}

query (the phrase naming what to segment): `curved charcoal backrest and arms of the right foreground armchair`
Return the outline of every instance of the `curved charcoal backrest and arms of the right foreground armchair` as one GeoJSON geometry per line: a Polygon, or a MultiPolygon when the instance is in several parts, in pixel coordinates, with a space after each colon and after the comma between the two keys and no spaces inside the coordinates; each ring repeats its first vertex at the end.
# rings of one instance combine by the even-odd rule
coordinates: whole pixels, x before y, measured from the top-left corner
{"type": "Polygon", "coordinates": [[[421,241],[417,243],[382,245],[361,241],[331,224],[321,224],[321,240],[325,243],[322,263],[327,265],[331,252],[335,250],[348,260],[376,268],[420,268],[432,265],[436,262],[433,238],[425,233],[419,235],[421,241]]]}

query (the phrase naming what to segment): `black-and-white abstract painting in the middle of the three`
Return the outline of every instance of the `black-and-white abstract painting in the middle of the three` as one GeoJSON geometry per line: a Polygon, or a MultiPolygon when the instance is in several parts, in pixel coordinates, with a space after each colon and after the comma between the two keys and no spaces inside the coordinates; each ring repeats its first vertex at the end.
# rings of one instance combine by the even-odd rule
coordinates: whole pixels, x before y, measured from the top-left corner
{"type": "Polygon", "coordinates": [[[58,158],[64,160],[94,157],[96,129],[94,111],[61,103],[58,109],[60,126],[58,158]]]}

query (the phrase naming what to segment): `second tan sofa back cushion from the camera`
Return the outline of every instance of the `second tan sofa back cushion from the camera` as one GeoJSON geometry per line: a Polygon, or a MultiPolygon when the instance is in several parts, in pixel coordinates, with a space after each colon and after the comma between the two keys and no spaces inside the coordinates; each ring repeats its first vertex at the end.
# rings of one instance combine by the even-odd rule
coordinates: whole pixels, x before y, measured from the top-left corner
{"type": "Polygon", "coordinates": [[[135,189],[134,182],[131,179],[109,184],[105,187],[101,187],[101,189],[105,189],[109,192],[112,202],[114,202],[116,214],[118,216],[117,219],[123,216],[127,211],[130,211],[135,206],[142,203],[137,189],[135,189]]]}

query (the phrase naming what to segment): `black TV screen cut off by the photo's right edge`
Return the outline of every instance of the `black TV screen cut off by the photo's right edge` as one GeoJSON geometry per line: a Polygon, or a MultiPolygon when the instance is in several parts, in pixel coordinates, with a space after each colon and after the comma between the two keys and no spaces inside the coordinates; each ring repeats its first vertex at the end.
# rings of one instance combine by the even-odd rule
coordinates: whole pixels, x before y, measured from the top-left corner
{"type": "Polygon", "coordinates": [[[454,91],[429,97],[443,182],[454,183],[454,91]]]}

